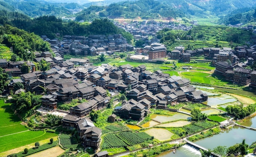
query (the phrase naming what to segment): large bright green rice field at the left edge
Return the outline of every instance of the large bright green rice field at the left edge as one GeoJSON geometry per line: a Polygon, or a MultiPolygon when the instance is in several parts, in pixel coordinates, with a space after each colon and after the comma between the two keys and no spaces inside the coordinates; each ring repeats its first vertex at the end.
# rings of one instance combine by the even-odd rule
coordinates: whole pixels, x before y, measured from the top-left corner
{"type": "Polygon", "coordinates": [[[56,136],[42,130],[32,131],[21,125],[19,117],[11,111],[10,104],[0,100],[0,152],[25,146],[56,136]]]}

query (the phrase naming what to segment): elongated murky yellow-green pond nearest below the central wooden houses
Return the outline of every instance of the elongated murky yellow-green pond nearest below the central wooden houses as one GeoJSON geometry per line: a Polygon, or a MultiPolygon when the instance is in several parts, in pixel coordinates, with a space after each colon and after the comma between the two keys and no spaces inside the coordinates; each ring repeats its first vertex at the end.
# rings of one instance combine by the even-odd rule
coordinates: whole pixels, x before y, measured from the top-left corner
{"type": "Polygon", "coordinates": [[[159,123],[171,122],[171,121],[176,121],[176,120],[180,120],[180,119],[184,119],[184,120],[191,119],[191,117],[189,115],[186,115],[184,113],[175,113],[175,115],[173,115],[173,116],[154,114],[150,118],[159,123]]]}

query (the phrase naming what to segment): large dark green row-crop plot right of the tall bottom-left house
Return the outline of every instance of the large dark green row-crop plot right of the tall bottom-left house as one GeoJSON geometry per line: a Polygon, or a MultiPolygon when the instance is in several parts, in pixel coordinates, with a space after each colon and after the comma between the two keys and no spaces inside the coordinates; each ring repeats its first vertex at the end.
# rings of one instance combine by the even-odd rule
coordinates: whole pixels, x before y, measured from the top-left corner
{"type": "Polygon", "coordinates": [[[103,137],[102,148],[133,146],[149,139],[151,139],[151,136],[146,133],[133,133],[131,131],[109,133],[103,137]]]}

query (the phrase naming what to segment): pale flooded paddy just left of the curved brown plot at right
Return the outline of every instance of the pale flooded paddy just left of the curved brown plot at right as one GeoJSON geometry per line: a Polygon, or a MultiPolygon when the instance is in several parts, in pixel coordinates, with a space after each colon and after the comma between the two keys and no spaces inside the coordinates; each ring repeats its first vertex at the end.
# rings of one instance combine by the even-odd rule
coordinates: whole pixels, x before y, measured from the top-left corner
{"type": "Polygon", "coordinates": [[[227,103],[236,102],[236,101],[237,100],[234,97],[224,94],[221,97],[208,97],[208,101],[203,103],[209,106],[217,106],[217,105],[227,104],[227,103]]]}

